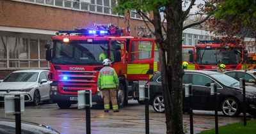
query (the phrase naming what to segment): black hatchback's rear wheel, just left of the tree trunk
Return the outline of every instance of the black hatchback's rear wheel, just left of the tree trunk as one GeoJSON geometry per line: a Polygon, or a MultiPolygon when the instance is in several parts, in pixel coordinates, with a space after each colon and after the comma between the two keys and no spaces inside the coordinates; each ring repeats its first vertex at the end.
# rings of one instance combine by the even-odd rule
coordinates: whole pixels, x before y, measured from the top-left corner
{"type": "Polygon", "coordinates": [[[153,108],[156,112],[164,112],[164,98],[162,94],[157,94],[153,100],[153,108]]]}

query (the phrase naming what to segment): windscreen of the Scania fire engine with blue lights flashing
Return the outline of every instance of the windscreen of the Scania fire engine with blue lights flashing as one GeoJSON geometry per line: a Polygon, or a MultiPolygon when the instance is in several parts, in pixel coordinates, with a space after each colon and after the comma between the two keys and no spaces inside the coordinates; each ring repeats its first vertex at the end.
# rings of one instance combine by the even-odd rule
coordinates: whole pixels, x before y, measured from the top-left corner
{"type": "Polygon", "coordinates": [[[102,65],[109,57],[109,41],[56,42],[53,49],[54,64],[102,65]]]}

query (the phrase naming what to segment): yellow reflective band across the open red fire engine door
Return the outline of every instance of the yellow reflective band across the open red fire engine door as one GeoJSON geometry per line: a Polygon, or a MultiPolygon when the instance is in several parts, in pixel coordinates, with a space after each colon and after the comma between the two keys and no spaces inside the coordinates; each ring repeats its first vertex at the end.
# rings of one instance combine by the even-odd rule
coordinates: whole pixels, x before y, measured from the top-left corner
{"type": "Polygon", "coordinates": [[[149,70],[149,64],[127,64],[127,74],[146,74],[149,70]]]}

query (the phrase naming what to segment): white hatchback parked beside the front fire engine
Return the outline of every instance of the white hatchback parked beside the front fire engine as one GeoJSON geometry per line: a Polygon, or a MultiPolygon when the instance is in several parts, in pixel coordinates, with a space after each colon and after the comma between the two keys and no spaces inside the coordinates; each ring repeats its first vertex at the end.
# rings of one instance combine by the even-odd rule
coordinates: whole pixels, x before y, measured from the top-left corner
{"type": "Polygon", "coordinates": [[[24,94],[25,102],[33,105],[50,100],[48,74],[48,70],[13,71],[0,83],[0,102],[4,102],[4,95],[8,94],[24,94]]]}

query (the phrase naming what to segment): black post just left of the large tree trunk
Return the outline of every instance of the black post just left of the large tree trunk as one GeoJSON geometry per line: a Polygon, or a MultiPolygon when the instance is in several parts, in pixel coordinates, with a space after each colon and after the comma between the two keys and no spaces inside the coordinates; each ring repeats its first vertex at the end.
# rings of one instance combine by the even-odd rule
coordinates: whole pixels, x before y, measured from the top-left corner
{"type": "Polygon", "coordinates": [[[148,108],[148,98],[149,98],[149,86],[145,87],[145,124],[146,124],[146,134],[149,134],[149,108],[148,108]]]}

